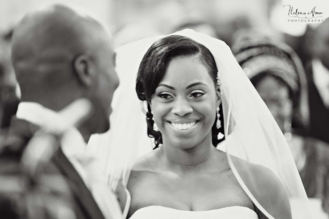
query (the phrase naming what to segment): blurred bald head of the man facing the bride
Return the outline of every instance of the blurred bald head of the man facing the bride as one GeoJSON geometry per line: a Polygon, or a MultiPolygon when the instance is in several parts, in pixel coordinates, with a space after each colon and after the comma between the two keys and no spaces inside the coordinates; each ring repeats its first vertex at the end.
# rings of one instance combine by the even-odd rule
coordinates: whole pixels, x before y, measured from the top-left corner
{"type": "Polygon", "coordinates": [[[88,98],[93,115],[85,134],[109,129],[118,86],[111,37],[93,18],[61,5],[26,15],[14,30],[12,62],[22,101],[61,110],[88,98]]]}

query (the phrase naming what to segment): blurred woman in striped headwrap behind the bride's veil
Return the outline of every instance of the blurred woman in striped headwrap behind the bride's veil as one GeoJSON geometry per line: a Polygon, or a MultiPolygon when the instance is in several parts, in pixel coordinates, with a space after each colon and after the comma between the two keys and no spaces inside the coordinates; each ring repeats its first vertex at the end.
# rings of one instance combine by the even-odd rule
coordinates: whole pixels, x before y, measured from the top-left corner
{"type": "Polygon", "coordinates": [[[320,198],[328,170],[329,145],[307,137],[307,85],[297,54],[269,38],[245,39],[235,57],[283,132],[308,197],[320,198]]]}

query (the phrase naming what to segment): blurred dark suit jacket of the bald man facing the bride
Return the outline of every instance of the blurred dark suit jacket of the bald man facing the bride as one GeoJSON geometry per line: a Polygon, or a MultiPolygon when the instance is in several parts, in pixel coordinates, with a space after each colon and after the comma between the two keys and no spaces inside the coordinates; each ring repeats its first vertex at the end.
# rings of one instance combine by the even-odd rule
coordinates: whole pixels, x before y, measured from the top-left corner
{"type": "MultiPolygon", "coordinates": [[[[17,184],[15,180],[20,181],[22,178],[24,179],[22,177],[24,175],[23,170],[20,166],[21,156],[27,143],[38,130],[38,126],[13,118],[6,141],[0,147],[0,178],[6,179],[7,177],[7,179],[11,179],[11,181],[7,180],[7,185],[8,182],[12,182],[9,185],[15,185],[17,184]]],[[[58,180],[57,182],[59,183],[53,183],[53,180],[48,181],[48,183],[42,183],[45,177],[40,177],[41,180],[39,179],[39,181],[42,181],[42,186],[35,186],[35,183],[30,183],[28,186],[22,186],[22,188],[0,189],[0,215],[4,216],[7,214],[9,217],[6,218],[25,218],[30,209],[28,209],[24,197],[31,190],[38,194],[39,188],[42,188],[40,189],[40,194],[42,194],[40,196],[43,198],[42,203],[50,203],[50,211],[53,210],[51,208],[54,208],[54,205],[57,203],[59,206],[70,208],[76,215],[76,218],[104,218],[92,194],[60,147],[53,154],[47,165],[42,167],[40,171],[43,171],[44,175],[51,175],[52,178],[61,178],[62,180],[58,180]],[[61,183],[62,185],[59,186],[61,183]],[[10,194],[11,192],[12,194],[10,194]],[[8,197],[10,197],[9,201],[8,197]],[[22,206],[25,207],[22,209],[22,206]]],[[[0,180],[0,184],[2,182],[6,182],[6,180],[0,180]]],[[[4,188],[4,186],[0,185],[0,188],[4,188]]],[[[46,215],[44,216],[45,218],[56,218],[57,216],[51,215],[47,208],[46,210],[40,210],[44,213],[42,215],[46,215]]]]}

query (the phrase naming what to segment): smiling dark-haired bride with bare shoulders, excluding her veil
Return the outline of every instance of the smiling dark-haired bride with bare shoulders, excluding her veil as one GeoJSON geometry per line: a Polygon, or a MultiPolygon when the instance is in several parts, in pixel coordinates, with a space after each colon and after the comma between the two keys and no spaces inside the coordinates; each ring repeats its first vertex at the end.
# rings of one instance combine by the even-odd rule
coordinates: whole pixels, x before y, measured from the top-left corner
{"type": "MultiPolygon", "coordinates": [[[[144,55],[136,91],[148,102],[148,130],[156,149],[133,166],[127,186],[132,196],[129,216],[136,213],[132,218],[158,218],[158,214],[215,218],[222,209],[230,218],[251,219],[257,214],[264,218],[236,181],[226,153],[212,141],[221,128],[217,72],[210,51],[186,36],[161,38],[144,55]]],[[[263,188],[276,191],[271,194],[273,216],[291,218],[287,195],[276,176],[234,159],[236,165],[252,169],[263,188]]]]}

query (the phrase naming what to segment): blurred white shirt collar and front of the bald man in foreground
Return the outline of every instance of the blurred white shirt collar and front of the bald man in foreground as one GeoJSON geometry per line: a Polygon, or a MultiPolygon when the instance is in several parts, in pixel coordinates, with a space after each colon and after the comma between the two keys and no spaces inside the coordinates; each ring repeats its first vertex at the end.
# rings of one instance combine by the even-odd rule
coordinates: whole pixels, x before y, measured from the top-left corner
{"type": "MultiPolygon", "coordinates": [[[[65,113],[64,113],[65,114],[65,113]]],[[[67,127],[63,113],[50,110],[38,103],[22,102],[19,104],[16,117],[53,131],[67,127]]],[[[71,164],[92,192],[95,201],[106,218],[121,218],[122,212],[115,194],[105,184],[96,157],[89,155],[81,133],[75,127],[66,128],[61,138],[61,147],[71,164]],[[87,164],[84,166],[84,164],[87,164]],[[111,208],[109,208],[111,206],[111,208]]]]}

